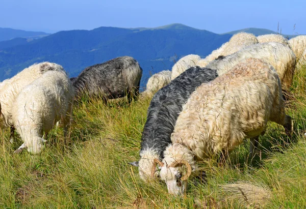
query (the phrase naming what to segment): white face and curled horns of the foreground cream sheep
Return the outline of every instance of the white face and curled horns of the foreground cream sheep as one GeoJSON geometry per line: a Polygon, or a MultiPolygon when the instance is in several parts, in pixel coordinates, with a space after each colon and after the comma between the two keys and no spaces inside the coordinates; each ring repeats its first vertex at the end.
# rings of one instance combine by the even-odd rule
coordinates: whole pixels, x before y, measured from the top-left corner
{"type": "Polygon", "coordinates": [[[154,164],[151,169],[151,177],[155,175],[156,166],[161,167],[160,177],[166,182],[168,192],[173,195],[183,195],[187,185],[187,179],[191,175],[191,166],[185,160],[176,160],[168,165],[166,162],[161,162],[154,159],[154,164]],[[186,171],[183,168],[186,167],[186,171]],[[185,173],[183,175],[183,173],[185,173]]]}

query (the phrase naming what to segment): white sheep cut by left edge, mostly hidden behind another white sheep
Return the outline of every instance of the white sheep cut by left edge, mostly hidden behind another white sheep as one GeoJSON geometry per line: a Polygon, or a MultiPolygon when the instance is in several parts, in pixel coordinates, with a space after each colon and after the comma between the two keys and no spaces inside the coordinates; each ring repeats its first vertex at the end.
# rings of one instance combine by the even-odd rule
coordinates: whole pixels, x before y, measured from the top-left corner
{"type": "Polygon", "coordinates": [[[0,83],[0,103],[1,103],[1,115],[0,126],[2,128],[11,128],[11,143],[13,142],[15,128],[12,122],[12,110],[15,105],[15,99],[21,92],[24,86],[29,85],[42,74],[48,71],[64,71],[63,67],[49,62],[43,62],[34,64],[28,68],[25,68],[14,77],[6,79],[0,83]]]}

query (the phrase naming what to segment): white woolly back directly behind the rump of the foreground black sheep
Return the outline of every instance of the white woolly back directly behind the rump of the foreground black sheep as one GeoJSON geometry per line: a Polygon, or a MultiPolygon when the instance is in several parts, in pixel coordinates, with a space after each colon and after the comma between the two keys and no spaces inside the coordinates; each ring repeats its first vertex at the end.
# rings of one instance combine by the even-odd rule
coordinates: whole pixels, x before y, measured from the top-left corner
{"type": "Polygon", "coordinates": [[[183,73],[185,70],[196,66],[197,62],[201,59],[199,55],[196,54],[189,54],[187,56],[184,56],[177,61],[174,66],[172,67],[172,74],[171,74],[171,80],[179,76],[181,73],[183,73]]]}

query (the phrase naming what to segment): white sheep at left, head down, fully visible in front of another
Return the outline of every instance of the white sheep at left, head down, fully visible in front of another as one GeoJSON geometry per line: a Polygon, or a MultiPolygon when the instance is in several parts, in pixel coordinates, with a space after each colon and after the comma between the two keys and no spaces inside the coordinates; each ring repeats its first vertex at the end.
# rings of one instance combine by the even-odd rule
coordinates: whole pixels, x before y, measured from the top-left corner
{"type": "Polygon", "coordinates": [[[49,71],[25,86],[12,107],[13,126],[24,142],[15,153],[27,147],[34,154],[43,148],[43,134],[62,121],[66,136],[74,97],[71,81],[64,71],[49,71]]]}

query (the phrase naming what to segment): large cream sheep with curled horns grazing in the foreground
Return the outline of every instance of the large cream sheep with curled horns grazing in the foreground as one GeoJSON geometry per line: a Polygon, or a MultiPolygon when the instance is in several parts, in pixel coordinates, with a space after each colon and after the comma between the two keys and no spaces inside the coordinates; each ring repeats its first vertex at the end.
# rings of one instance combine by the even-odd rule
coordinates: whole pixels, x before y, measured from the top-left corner
{"type": "Polygon", "coordinates": [[[256,142],[268,121],[283,125],[291,136],[291,117],[285,113],[276,71],[260,59],[248,58],[192,93],[177,118],[172,144],[164,151],[162,162],[154,160],[151,176],[159,164],[168,192],[183,194],[187,178],[198,168],[197,161],[226,156],[244,138],[256,142]]]}

